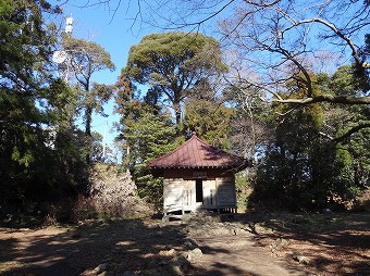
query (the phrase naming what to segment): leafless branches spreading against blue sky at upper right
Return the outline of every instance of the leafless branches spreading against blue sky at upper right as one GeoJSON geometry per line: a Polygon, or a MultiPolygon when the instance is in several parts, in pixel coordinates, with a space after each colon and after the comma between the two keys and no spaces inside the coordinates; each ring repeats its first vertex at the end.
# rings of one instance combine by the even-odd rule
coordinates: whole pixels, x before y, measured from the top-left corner
{"type": "MultiPolygon", "coordinates": [[[[259,90],[266,101],[369,104],[368,1],[157,1],[145,8],[160,11],[161,20],[150,21],[158,27],[213,28],[227,51],[229,81],[259,90]],[[333,74],[348,61],[358,93],[313,91],[311,73],[333,74]],[[289,97],[297,89],[289,81],[305,86],[299,98],[289,97]]],[[[369,124],[357,126],[365,127],[369,124]]]]}

